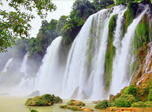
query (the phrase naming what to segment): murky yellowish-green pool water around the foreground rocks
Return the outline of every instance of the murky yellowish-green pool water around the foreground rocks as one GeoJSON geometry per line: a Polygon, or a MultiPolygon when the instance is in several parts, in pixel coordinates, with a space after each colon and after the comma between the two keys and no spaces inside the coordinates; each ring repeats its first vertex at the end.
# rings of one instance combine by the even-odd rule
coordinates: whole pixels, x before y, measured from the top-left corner
{"type": "MultiPolygon", "coordinates": [[[[60,104],[55,104],[53,106],[45,107],[27,107],[24,105],[26,97],[12,97],[12,96],[0,96],[0,112],[30,112],[29,108],[36,109],[38,112],[77,112],[68,109],[60,109],[60,104]]],[[[63,104],[69,100],[64,100],[63,104]]],[[[85,108],[94,109],[94,105],[91,104],[91,101],[83,101],[86,106],[85,108]]],[[[103,110],[96,110],[94,112],[106,112],[103,110]]]]}

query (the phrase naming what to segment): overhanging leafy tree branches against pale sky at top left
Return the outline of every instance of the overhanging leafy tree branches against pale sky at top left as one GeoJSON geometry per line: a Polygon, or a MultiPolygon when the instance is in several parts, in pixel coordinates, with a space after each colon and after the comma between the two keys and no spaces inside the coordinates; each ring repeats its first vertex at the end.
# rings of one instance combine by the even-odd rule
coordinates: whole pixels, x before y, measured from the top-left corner
{"type": "MultiPolygon", "coordinates": [[[[56,10],[56,6],[50,0],[5,0],[14,11],[0,9],[0,52],[15,44],[17,37],[29,36],[31,25],[29,22],[34,18],[32,10],[36,9],[41,18],[45,18],[48,12],[56,10]],[[30,12],[23,12],[23,8],[30,12]]],[[[0,6],[4,1],[0,0],[0,6]]]]}

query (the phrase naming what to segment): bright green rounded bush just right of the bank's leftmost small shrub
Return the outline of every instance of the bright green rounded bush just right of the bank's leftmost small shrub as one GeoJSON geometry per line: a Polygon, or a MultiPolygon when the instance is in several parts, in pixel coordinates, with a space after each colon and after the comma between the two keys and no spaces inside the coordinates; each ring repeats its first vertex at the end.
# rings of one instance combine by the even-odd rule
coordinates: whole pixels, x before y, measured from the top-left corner
{"type": "Polygon", "coordinates": [[[122,95],[114,103],[117,107],[131,107],[134,101],[135,97],[133,95],[122,95]]]}

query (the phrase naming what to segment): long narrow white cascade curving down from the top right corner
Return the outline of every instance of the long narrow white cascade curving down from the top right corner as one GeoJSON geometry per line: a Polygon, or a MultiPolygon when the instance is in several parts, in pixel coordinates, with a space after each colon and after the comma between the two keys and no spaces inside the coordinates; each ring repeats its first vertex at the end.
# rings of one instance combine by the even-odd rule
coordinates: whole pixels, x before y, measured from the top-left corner
{"type": "MultiPolygon", "coordinates": [[[[112,83],[110,88],[111,94],[117,94],[120,92],[122,88],[128,85],[128,65],[130,63],[131,55],[129,54],[129,50],[131,49],[131,40],[134,37],[134,32],[136,26],[141,20],[142,16],[146,13],[148,6],[145,6],[145,10],[133,20],[131,25],[128,27],[127,33],[125,34],[123,40],[121,41],[121,50],[120,54],[116,56],[117,61],[113,63],[113,72],[112,72],[112,83]]],[[[114,59],[116,60],[116,59],[114,59]]]]}

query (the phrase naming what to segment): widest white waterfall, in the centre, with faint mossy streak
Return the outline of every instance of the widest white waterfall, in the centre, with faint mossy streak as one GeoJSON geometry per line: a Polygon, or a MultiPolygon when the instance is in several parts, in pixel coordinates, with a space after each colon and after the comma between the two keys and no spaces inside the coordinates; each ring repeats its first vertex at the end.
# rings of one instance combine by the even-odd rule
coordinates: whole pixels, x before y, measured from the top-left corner
{"type": "Polygon", "coordinates": [[[112,13],[104,9],[88,18],[74,40],[68,55],[62,97],[80,99],[108,97],[104,93],[103,84],[108,24],[113,15],[122,13],[123,8],[116,6],[112,13]],[[92,58],[88,67],[90,55],[92,58]]]}

